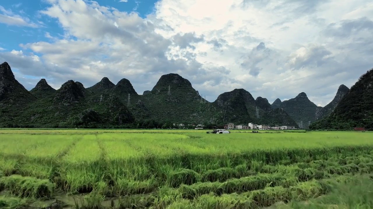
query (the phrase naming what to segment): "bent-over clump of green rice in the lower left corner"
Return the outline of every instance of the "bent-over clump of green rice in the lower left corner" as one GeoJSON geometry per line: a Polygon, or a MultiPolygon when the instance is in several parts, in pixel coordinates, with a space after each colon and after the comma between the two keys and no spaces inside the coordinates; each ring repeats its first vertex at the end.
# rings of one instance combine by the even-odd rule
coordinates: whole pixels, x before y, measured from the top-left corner
{"type": "Polygon", "coordinates": [[[21,197],[51,199],[54,194],[54,184],[49,180],[20,175],[2,177],[0,189],[21,197]]]}

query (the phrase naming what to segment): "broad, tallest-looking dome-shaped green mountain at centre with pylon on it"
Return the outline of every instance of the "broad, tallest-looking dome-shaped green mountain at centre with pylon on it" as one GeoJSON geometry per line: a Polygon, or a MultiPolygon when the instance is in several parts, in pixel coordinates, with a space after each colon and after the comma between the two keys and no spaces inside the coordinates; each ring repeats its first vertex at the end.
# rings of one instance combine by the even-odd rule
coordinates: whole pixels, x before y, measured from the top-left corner
{"type": "Polygon", "coordinates": [[[222,120],[217,107],[204,100],[192,84],[178,74],[162,75],[141,100],[156,120],[177,123],[219,123],[222,120]]]}

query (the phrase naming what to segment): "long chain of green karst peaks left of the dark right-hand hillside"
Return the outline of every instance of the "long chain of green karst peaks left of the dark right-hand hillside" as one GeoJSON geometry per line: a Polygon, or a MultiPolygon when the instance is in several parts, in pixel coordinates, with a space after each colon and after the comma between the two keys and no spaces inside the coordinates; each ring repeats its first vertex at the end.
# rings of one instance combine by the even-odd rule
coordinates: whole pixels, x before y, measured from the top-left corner
{"type": "Polygon", "coordinates": [[[58,90],[41,79],[28,91],[4,62],[0,65],[0,126],[124,127],[149,121],[152,126],[162,122],[297,126],[302,121],[306,127],[308,121],[330,114],[346,92],[348,88],[341,85],[325,107],[317,107],[303,92],[287,101],[276,99],[270,105],[267,99],[254,99],[244,89],[222,93],[208,102],[178,74],[162,75],[153,89],[142,95],[126,78],[113,84],[106,77],[88,88],[69,80],[58,90]]]}

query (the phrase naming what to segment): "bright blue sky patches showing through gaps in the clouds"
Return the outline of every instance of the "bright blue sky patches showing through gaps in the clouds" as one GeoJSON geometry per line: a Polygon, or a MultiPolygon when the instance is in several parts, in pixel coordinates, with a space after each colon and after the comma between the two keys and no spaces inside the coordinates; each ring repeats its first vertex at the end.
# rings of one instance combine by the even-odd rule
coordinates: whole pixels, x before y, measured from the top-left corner
{"type": "MultiPolygon", "coordinates": [[[[7,31],[7,33],[0,33],[0,40],[6,40],[1,42],[1,48],[19,50],[20,43],[49,41],[45,37],[46,32],[53,36],[63,35],[63,29],[60,28],[56,20],[50,19],[45,15],[40,15],[39,11],[44,10],[50,4],[44,0],[35,1],[14,0],[0,3],[0,6],[8,12],[26,17],[30,22],[42,26],[40,28],[35,28],[34,26],[19,27],[19,25],[0,23],[0,27],[7,31]],[[35,1],[38,1],[38,3],[35,4],[35,1]]],[[[102,6],[115,7],[122,12],[137,12],[139,16],[146,17],[153,12],[156,0],[97,0],[97,2],[102,6]]]]}

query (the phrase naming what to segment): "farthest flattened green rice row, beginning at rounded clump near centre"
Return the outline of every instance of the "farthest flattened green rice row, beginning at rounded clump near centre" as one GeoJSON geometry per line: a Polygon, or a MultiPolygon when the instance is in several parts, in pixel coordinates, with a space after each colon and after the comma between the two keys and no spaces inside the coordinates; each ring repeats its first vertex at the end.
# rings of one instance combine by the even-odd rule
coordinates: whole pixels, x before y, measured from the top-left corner
{"type": "MultiPolygon", "coordinates": [[[[367,155],[373,158],[372,155],[367,155]]],[[[365,157],[365,161],[369,162],[369,157],[365,157]]],[[[350,158],[350,157],[346,157],[350,158]]],[[[344,160],[341,158],[340,160],[344,160]]],[[[355,164],[340,165],[336,159],[330,160],[314,160],[310,163],[296,163],[292,165],[266,165],[263,162],[252,161],[250,164],[238,165],[235,168],[218,168],[216,170],[207,170],[203,174],[198,174],[193,170],[179,169],[171,171],[167,175],[167,181],[171,187],[178,187],[181,184],[191,185],[197,182],[224,182],[228,179],[239,179],[245,176],[256,175],[257,173],[296,173],[298,180],[305,181],[308,179],[316,178],[321,179],[334,173],[348,173],[357,172],[364,167],[370,166],[370,163],[361,163],[360,166],[355,164]],[[252,169],[252,170],[250,170],[252,169]]],[[[350,162],[350,161],[348,161],[350,162]]],[[[360,162],[360,161],[359,161],[360,162]]]]}

